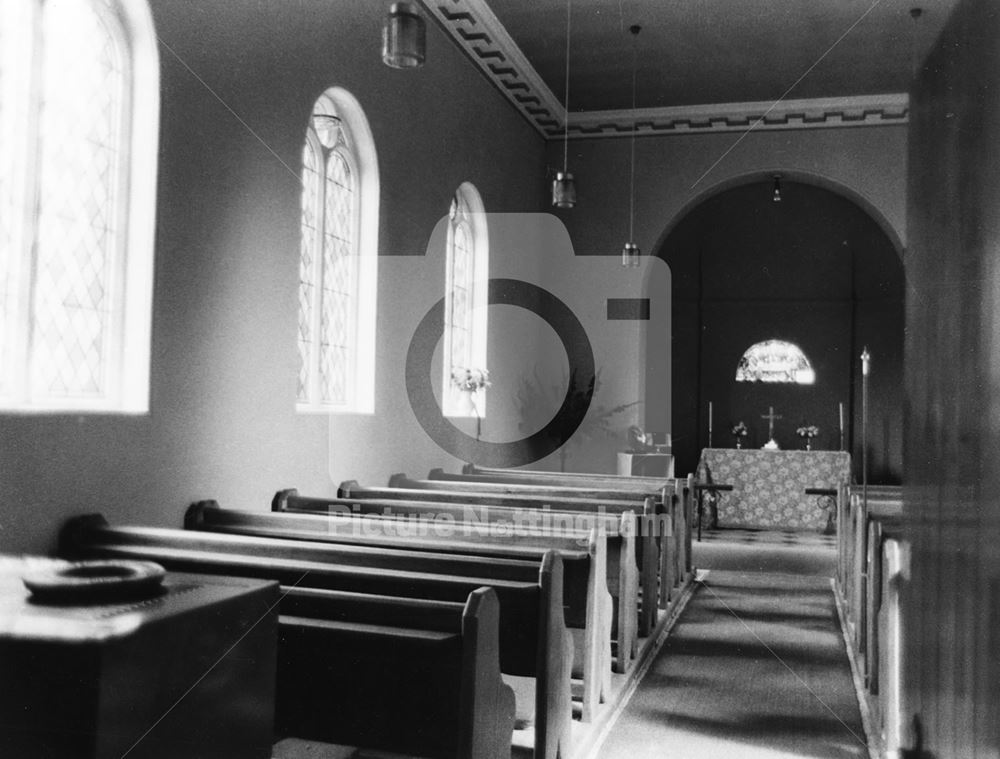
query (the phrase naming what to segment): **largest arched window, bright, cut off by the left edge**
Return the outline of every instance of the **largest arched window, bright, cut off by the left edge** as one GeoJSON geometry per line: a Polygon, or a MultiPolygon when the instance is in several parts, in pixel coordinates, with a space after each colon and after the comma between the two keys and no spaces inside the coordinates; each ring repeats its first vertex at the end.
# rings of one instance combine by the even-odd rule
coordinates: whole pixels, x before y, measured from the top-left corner
{"type": "Polygon", "coordinates": [[[0,3],[0,408],[149,408],[158,66],[144,0],[0,3]]]}

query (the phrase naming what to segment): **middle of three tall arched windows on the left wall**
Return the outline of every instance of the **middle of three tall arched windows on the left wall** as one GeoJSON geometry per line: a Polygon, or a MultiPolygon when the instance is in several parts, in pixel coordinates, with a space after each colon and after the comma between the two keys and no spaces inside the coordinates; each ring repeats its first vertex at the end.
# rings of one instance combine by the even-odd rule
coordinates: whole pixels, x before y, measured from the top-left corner
{"type": "Polygon", "coordinates": [[[302,151],[297,407],[374,411],[378,163],[361,106],[334,87],[302,151]]]}

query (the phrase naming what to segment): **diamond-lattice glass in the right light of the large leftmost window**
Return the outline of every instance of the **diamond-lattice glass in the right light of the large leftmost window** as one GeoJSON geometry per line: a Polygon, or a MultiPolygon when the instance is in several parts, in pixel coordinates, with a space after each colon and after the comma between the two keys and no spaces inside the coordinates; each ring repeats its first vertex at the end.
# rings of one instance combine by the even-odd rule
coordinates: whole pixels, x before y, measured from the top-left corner
{"type": "Polygon", "coordinates": [[[32,387],[107,390],[125,78],[117,30],[79,0],[46,5],[32,387]]]}

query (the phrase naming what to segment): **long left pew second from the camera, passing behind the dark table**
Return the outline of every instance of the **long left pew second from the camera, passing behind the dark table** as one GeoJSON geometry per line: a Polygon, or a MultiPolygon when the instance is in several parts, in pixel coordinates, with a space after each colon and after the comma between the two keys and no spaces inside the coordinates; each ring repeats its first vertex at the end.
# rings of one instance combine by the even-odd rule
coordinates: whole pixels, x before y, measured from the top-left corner
{"type": "MultiPolygon", "coordinates": [[[[146,559],[176,571],[275,579],[282,583],[287,596],[279,611],[287,610],[290,616],[302,609],[288,604],[295,599],[303,603],[302,593],[309,589],[312,596],[333,591],[355,596],[402,597],[408,599],[402,602],[408,605],[401,619],[411,617],[414,624],[426,626],[420,603],[413,599],[461,602],[472,591],[488,585],[495,591],[500,609],[500,670],[508,675],[535,679],[535,756],[545,759],[570,756],[573,646],[564,621],[563,565],[558,553],[547,552],[540,565],[534,564],[535,579],[527,581],[411,571],[397,568],[398,561],[390,561],[388,566],[317,561],[315,550],[302,551],[302,556],[308,558],[296,557],[297,549],[307,548],[307,543],[284,541],[290,545],[276,550],[274,544],[280,542],[182,530],[113,528],[99,515],[89,515],[70,520],[65,525],[60,535],[60,552],[69,558],[146,559]],[[293,600],[289,601],[288,597],[293,600]]],[[[383,549],[380,553],[401,552],[383,549]]],[[[490,567],[481,569],[481,574],[489,574],[490,567]]],[[[294,679],[290,682],[294,684],[294,679]]],[[[591,696],[591,702],[595,698],[591,696]]],[[[528,713],[532,709],[520,711],[528,713]]],[[[329,719],[330,713],[324,712],[324,718],[329,719]]],[[[508,734],[508,756],[509,739],[508,734]]]]}

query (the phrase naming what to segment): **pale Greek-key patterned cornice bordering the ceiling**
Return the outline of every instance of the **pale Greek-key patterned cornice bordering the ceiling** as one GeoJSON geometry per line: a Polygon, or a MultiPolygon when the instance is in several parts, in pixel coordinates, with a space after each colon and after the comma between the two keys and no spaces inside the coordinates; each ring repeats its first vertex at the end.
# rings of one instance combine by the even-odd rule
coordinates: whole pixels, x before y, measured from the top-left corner
{"type": "MultiPolygon", "coordinates": [[[[421,0],[522,116],[546,139],[564,133],[565,110],[504,28],[486,0],[421,0]]],[[[579,111],[569,114],[571,139],[639,135],[684,135],[746,130],[820,129],[906,124],[905,93],[777,103],[579,111]]]]}

